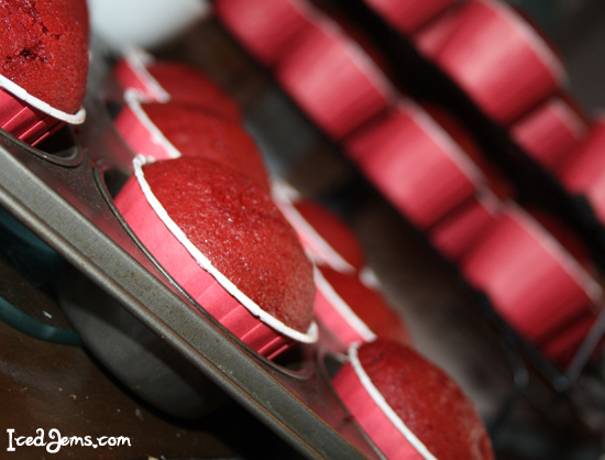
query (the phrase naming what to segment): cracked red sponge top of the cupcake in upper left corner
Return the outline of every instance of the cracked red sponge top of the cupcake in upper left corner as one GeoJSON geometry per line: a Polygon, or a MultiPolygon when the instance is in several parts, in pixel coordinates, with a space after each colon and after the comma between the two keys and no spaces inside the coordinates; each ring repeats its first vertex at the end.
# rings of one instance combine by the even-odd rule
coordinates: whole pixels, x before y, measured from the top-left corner
{"type": "Polygon", "coordinates": [[[70,0],[4,0],[0,28],[0,74],[55,109],[75,113],[86,90],[88,50],[70,0]]]}

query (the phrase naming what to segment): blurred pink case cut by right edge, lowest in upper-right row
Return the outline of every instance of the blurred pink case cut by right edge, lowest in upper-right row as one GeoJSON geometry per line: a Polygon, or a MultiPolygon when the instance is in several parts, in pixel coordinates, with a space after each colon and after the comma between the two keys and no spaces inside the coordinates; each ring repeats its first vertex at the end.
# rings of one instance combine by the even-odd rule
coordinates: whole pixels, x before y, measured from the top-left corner
{"type": "Polygon", "coordinates": [[[605,222],[605,116],[601,116],[586,140],[558,167],[558,175],[573,194],[585,196],[596,217],[605,222]]]}

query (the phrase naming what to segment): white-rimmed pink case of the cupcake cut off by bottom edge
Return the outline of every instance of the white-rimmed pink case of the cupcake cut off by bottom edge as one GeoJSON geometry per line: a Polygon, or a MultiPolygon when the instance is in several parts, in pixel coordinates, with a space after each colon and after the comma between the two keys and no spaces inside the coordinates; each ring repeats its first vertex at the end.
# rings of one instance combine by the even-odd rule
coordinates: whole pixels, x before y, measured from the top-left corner
{"type": "Polygon", "coordinates": [[[358,348],[349,349],[349,362],[332,379],[344,406],[386,458],[437,460],[374,386],[358,358],[358,348]]]}

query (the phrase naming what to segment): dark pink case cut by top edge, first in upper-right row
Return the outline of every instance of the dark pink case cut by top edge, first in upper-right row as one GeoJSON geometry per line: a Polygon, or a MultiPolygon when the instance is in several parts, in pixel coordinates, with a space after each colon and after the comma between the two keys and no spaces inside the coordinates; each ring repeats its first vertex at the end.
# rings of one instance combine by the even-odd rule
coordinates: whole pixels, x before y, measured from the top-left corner
{"type": "Polygon", "coordinates": [[[410,34],[446,10],[454,0],[365,0],[393,28],[410,34]]]}

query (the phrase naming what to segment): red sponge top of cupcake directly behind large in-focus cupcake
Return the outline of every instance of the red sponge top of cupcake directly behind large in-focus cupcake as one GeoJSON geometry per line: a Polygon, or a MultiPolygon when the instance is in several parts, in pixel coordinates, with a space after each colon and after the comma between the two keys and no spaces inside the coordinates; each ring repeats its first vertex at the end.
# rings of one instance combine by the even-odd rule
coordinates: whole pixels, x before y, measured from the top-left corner
{"type": "Polygon", "coordinates": [[[142,108],[183,156],[199,156],[224,164],[268,190],[262,154],[238,123],[182,103],[150,102],[142,108]]]}

